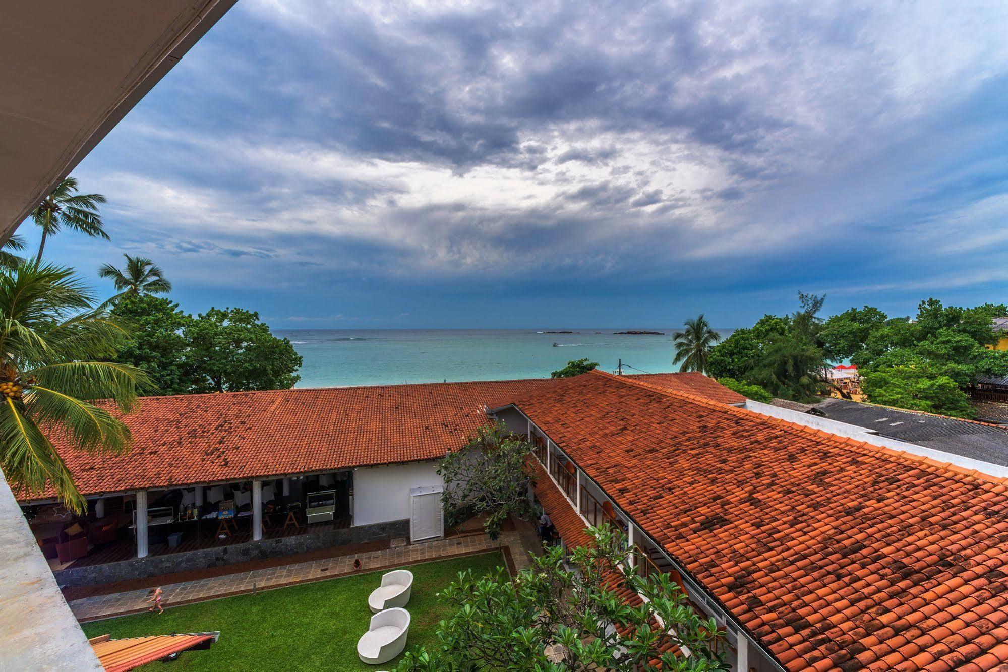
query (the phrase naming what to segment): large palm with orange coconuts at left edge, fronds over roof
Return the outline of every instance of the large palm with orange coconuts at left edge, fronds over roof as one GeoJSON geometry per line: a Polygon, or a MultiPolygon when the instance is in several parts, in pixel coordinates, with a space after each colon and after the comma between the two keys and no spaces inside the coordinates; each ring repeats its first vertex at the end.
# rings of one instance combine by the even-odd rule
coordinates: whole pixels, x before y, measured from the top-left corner
{"type": "Polygon", "coordinates": [[[130,432],[117,416],[133,407],[138,388],[153,387],[139,369],[101,361],[129,330],[94,303],[69,268],[30,261],[0,273],[0,466],[13,488],[51,487],[79,513],[87,502],[53,439],[126,449],[130,432]]]}

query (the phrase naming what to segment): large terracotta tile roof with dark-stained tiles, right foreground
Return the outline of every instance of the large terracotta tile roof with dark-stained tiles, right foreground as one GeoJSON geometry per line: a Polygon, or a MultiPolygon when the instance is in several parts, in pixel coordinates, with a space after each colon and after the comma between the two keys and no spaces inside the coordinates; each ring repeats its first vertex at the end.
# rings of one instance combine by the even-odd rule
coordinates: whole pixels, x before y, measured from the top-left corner
{"type": "Polygon", "coordinates": [[[600,372],[513,401],[788,670],[1008,663],[1004,482],[600,372]]]}

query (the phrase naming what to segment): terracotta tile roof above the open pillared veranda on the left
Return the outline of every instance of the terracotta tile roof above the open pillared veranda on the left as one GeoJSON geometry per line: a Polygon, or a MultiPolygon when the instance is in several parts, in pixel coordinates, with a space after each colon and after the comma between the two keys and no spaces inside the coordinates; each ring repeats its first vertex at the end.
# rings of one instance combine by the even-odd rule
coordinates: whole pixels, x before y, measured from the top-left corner
{"type": "Polygon", "coordinates": [[[439,457],[488,422],[484,402],[551,379],[145,397],[124,420],[133,447],[60,446],[84,495],[439,457]]]}

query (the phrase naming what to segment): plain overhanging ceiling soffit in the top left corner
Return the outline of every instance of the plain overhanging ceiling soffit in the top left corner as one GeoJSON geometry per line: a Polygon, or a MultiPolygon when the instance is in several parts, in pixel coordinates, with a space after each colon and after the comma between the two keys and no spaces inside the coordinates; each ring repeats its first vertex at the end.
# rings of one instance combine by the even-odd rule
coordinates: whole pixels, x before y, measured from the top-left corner
{"type": "Polygon", "coordinates": [[[0,241],[236,0],[0,0],[0,241]]]}

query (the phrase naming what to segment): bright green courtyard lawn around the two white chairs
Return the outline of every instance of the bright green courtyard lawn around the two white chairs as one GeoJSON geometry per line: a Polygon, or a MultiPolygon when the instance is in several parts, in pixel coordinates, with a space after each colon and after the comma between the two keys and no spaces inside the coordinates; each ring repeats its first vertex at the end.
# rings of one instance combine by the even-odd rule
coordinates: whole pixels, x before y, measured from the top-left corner
{"type": "MultiPolygon", "coordinates": [[[[436,592],[472,567],[483,574],[504,564],[500,553],[470,555],[412,565],[413,592],[406,609],[411,622],[406,651],[436,641],[434,629],[445,618],[436,592]]],[[[357,658],[357,640],[368,629],[368,594],[383,572],[358,574],[289,588],[266,590],[84,624],[88,637],[138,637],[220,631],[209,651],[183,653],[172,670],[370,670],[388,669],[357,658]]],[[[148,666],[155,669],[161,663],[148,666]]]]}

